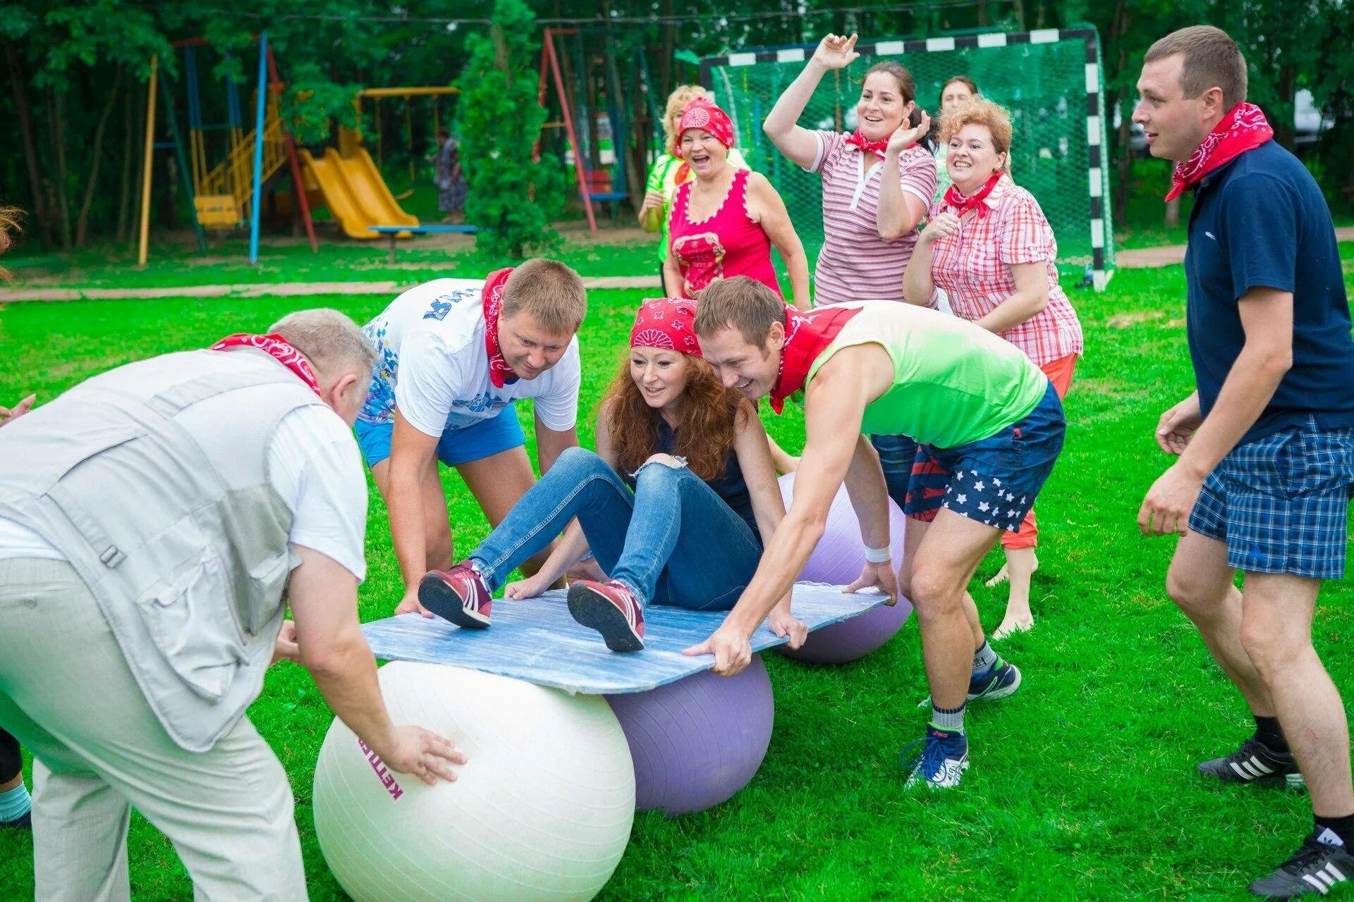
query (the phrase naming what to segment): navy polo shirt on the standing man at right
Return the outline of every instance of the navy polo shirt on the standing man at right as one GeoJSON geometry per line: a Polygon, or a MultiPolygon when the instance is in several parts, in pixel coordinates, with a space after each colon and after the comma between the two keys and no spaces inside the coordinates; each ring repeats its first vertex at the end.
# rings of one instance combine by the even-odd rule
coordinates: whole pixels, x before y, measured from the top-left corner
{"type": "Polygon", "coordinates": [[[1251,288],[1293,292],[1293,366],[1242,442],[1316,417],[1354,426],[1354,338],[1335,227],[1316,180],[1274,141],[1209,173],[1194,193],[1185,252],[1189,350],[1206,417],[1246,333],[1251,288]]]}

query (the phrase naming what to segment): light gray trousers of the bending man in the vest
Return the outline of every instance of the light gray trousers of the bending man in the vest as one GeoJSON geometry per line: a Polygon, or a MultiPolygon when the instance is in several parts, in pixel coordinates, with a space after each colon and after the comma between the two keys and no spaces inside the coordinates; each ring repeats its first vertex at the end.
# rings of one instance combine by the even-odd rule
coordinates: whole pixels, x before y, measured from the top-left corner
{"type": "Polygon", "coordinates": [[[179,748],[69,564],[0,560],[0,726],[34,756],[37,899],[130,899],[131,806],[173,842],[199,902],[306,899],[272,749],[248,718],[209,752],[179,748]]]}

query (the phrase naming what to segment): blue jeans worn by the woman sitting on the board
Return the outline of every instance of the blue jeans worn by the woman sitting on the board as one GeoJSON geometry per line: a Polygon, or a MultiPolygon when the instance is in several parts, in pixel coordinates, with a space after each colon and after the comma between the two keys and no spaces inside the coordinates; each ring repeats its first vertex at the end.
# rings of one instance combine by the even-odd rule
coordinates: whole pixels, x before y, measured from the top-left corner
{"type": "Polygon", "coordinates": [[[590,450],[570,448],[470,559],[489,591],[574,517],[603,571],[640,603],[731,609],[761,560],[761,541],[685,467],[647,462],[635,491],[590,450]]]}

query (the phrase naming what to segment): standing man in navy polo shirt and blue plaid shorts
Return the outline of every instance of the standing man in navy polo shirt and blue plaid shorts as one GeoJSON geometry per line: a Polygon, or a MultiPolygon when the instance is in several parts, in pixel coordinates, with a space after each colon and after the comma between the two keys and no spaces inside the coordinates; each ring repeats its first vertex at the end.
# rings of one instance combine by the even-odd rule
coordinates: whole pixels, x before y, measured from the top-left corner
{"type": "Polygon", "coordinates": [[[1185,277],[1197,384],[1158,423],[1179,460],[1147,492],[1139,526],[1182,534],[1167,592],[1255,717],[1238,752],[1200,771],[1305,778],[1311,790],[1312,834],[1251,893],[1324,895],[1354,878],[1349,726],[1312,648],[1322,580],[1345,575],[1354,491],[1354,341],[1335,230],[1316,181],[1246,103],[1246,61],[1225,32],[1162,38],[1137,91],[1133,122],[1152,156],[1178,164],[1167,199],[1194,191],[1185,277]]]}

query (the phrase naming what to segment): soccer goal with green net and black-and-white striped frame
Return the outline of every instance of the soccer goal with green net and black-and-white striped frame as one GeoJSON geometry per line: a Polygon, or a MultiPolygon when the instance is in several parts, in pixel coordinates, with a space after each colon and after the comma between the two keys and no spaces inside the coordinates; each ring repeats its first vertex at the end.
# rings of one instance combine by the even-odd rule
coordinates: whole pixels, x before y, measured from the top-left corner
{"type": "MultiPolygon", "coordinates": [[[[816,45],[761,49],[701,61],[701,81],[734,119],[738,146],[753,169],[780,191],[812,261],[823,238],[822,189],[772,146],[762,119],[816,45]]],[[[1105,84],[1099,37],[1091,27],[871,41],[860,60],[831,72],[799,124],[850,131],[860,81],[880,60],[895,60],[917,80],[917,103],[933,116],[941,85],[968,76],[979,92],[1011,111],[1011,176],[1028,188],[1057,238],[1064,272],[1087,272],[1099,291],[1114,270],[1110,227],[1105,84]]]]}

